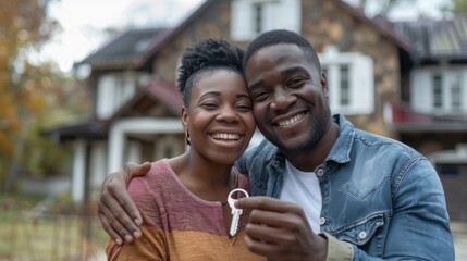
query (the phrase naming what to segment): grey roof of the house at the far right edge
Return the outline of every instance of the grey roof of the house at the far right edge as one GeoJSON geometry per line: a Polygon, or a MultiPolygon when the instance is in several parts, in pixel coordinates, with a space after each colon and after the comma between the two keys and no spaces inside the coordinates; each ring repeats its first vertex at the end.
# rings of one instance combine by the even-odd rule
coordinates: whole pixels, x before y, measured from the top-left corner
{"type": "Polygon", "coordinates": [[[467,16],[395,22],[393,27],[411,42],[419,59],[467,59],[467,16]]]}

